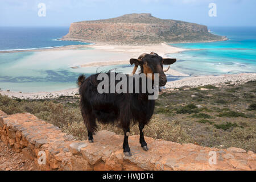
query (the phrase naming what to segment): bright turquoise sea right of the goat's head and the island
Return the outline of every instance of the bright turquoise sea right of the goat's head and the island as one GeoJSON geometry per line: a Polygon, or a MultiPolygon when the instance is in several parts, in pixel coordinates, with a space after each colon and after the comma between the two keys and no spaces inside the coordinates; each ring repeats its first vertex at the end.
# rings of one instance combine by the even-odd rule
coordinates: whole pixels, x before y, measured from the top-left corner
{"type": "Polygon", "coordinates": [[[256,27],[209,27],[227,41],[180,43],[171,46],[192,49],[168,55],[176,57],[172,68],[191,76],[256,72],[256,27]]]}

